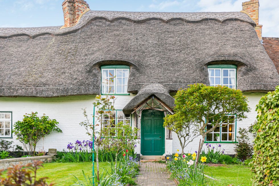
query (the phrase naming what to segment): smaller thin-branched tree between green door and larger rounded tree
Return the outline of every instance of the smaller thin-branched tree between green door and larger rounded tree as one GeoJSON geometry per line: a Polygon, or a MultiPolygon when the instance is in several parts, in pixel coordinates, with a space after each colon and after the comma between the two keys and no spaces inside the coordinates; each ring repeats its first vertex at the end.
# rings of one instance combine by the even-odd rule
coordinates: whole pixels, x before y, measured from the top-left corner
{"type": "Polygon", "coordinates": [[[177,134],[182,149],[181,153],[184,154],[184,148],[198,137],[198,125],[183,117],[176,107],[174,111],[175,114],[167,115],[164,118],[163,125],[177,134]]]}

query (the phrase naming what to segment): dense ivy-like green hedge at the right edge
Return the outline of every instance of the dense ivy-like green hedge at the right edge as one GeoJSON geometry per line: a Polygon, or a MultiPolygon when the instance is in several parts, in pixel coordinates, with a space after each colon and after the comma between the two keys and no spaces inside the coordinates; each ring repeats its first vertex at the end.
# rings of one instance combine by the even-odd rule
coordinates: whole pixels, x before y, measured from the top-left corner
{"type": "Polygon", "coordinates": [[[279,86],[268,92],[256,106],[254,155],[251,170],[253,186],[279,185],[279,86]]]}

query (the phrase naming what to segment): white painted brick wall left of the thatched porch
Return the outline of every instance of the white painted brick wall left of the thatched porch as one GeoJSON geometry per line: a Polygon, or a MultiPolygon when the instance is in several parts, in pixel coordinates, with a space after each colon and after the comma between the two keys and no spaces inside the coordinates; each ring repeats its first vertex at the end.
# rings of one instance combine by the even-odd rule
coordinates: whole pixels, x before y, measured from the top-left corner
{"type": "MultiPolygon", "coordinates": [[[[123,109],[123,107],[132,99],[134,95],[117,96],[114,107],[123,109]]],[[[93,121],[93,102],[95,95],[76,95],[54,98],[39,97],[0,97],[0,111],[12,111],[13,123],[22,120],[25,113],[38,112],[38,116],[46,114],[50,119],[56,119],[59,122],[59,128],[63,133],[52,132],[38,142],[36,150],[56,148],[57,150],[67,149],[69,142],[76,140],[89,140],[86,130],[79,123],[85,120],[83,110],[86,108],[87,114],[93,121]]],[[[22,146],[13,135],[14,144],[22,146]]]]}

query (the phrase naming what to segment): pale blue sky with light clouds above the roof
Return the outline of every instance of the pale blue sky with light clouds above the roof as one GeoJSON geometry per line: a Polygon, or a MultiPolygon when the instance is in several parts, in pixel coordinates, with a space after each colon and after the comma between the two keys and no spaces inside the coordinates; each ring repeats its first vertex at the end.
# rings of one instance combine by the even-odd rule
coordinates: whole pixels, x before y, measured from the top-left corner
{"type": "MultiPolygon", "coordinates": [[[[246,0],[87,0],[91,10],[144,12],[241,11],[246,0]]],[[[0,0],[0,28],[64,24],[63,0],[0,0]]],[[[279,37],[279,0],[259,0],[263,37],[279,37]]]]}

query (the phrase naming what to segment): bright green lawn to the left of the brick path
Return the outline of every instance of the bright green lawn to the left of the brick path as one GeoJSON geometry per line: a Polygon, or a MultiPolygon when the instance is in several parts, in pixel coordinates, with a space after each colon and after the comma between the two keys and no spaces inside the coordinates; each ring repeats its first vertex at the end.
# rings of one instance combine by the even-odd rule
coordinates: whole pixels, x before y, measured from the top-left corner
{"type": "MultiPolygon", "coordinates": [[[[56,183],[55,186],[68,186],[72,185],[77,181],[73,176],[75,175],[79,180],[83,180],[84,176],[82,170],[84,171],[86,177],[92,176],[92,162],[81,162],[81,163],[44,163],[44,167],[38,169],[37,178],[49,177],[47,183],[56,183]]],[[[111,173],[110,163],[100,162],[99,170],[102,172],[104,169],[111,173]]],[[[96,163],[94,163],[94,170],[97,173],[96,163]]]]}

